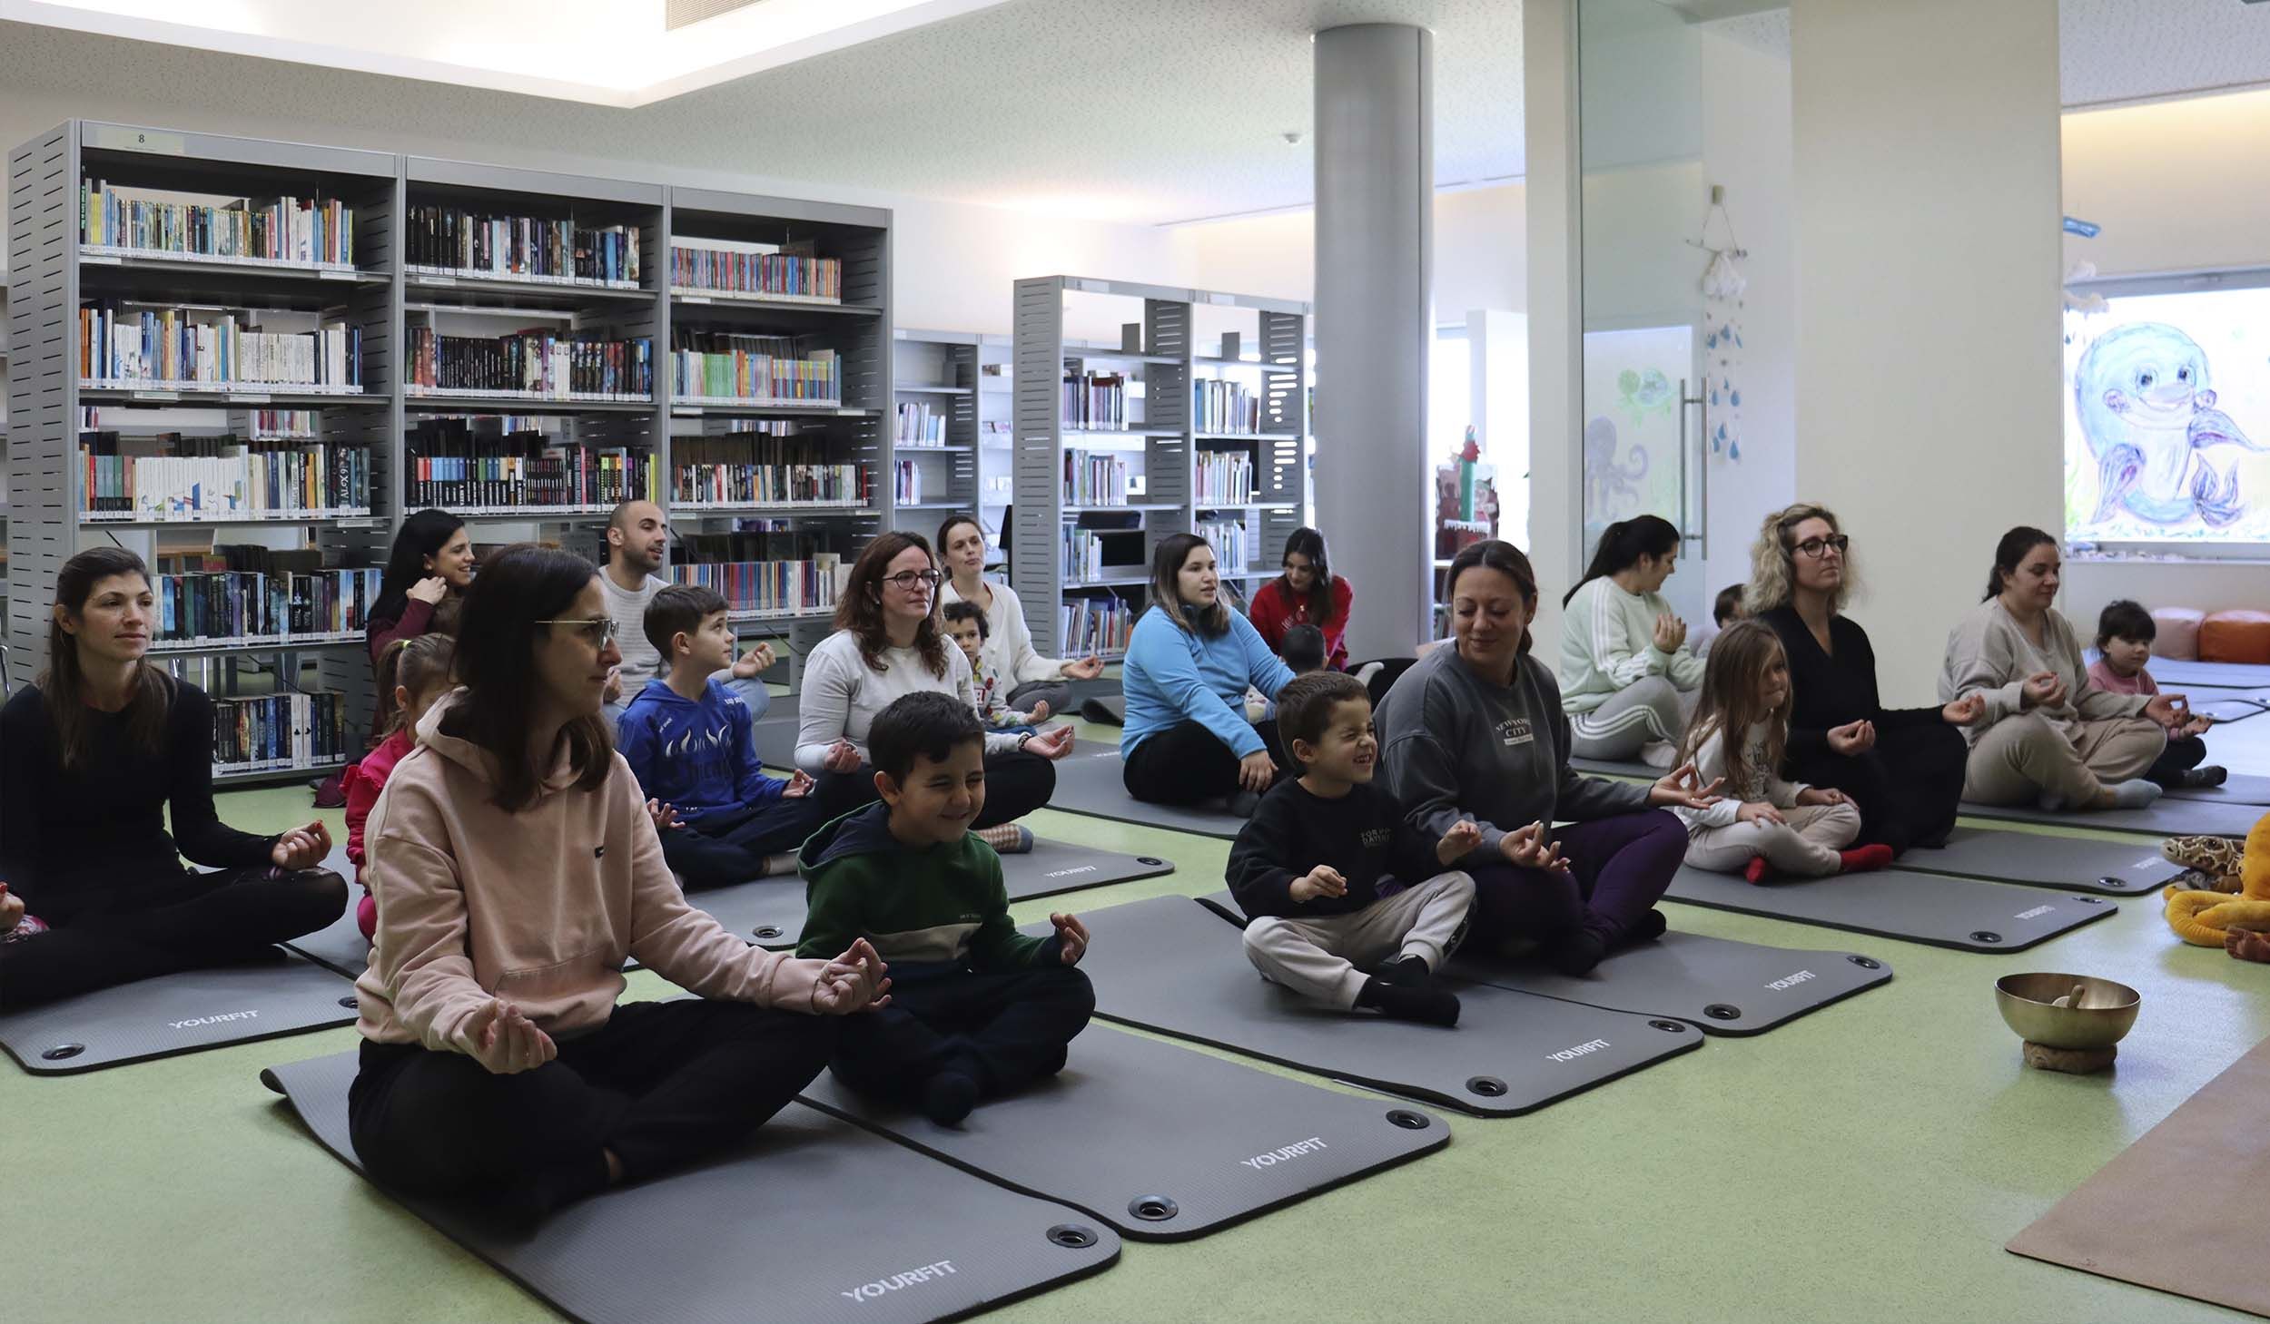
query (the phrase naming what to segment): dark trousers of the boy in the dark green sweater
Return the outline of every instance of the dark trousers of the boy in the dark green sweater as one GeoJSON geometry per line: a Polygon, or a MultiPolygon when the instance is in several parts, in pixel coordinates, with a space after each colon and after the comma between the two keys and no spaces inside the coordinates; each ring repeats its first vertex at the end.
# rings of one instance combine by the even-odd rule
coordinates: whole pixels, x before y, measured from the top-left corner
{"type": "Polygon", "coordinates": [[[915,1102],[951,1068],[985,1097],[1006,1095],[1065,1070],[1065,1045],[1094,1009],[1094,986],[1071,966],[915,975],[892,984],[890,1007],[844,1018],[835,1077],[863,1095],[915,1102]]]}

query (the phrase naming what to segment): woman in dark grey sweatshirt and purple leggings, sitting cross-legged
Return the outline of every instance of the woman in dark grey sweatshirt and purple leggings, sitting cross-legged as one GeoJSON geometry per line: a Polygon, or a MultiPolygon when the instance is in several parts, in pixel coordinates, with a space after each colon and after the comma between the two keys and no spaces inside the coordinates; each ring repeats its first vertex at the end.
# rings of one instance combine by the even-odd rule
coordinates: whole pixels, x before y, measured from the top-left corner
{"type": "Polygon", "coordinates": [[[1664,932],[1655,902],[1687,852],[1662,807],[1709,807],[1691,766],[1655,784],[1569,769],[1569,716],[1553,671],[1530,657],[1537,574],[1510,542],[1451,562],[1453,642],[1405,671],[1380,701],[1380,769],[1414,828],[1439,839],[1482,825],[1462,862],[1482,943],[1535,936],[1555,968],[1580,975],[1609,950],[1664,932]],[[1555,830],[1553,823],[1569,821],[1555,830]]]}

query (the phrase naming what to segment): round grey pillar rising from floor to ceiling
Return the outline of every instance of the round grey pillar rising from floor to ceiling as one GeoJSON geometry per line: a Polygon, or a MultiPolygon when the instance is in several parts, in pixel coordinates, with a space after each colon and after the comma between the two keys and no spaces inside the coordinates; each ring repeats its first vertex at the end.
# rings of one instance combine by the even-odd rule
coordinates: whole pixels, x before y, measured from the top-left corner
{"type": "Polygon", "coordinates": [[[1355,585],[1348,655],[1410,655],[1432,596],[1435,39],[1317,34],[1317,526],[1355,585]]]}

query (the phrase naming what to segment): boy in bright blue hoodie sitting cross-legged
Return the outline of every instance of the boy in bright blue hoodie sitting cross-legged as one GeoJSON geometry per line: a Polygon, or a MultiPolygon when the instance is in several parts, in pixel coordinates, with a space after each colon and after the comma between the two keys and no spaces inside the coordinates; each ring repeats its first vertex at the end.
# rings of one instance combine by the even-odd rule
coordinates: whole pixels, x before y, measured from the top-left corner
{"type": "Polygon", "coordinates": [[[790,873],[822,807],[808,775],[765,775],[749,705],[711,680],[717,657],[733,664],[726,601],[701,585],[670,585],[647,603],[645,628],[670,671],[622,712],[617,741],[656,823],[670,823],[663,859],[686,891],[790,873]]]}

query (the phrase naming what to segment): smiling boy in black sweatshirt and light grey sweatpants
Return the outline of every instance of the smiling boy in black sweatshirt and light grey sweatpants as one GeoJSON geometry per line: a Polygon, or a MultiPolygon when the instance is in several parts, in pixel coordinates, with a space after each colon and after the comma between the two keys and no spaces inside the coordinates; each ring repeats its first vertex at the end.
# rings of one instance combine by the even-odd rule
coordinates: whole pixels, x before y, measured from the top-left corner
{"type": "Polygon", "coordinates": [[[1444,866],[1480,843],[1480,828],[1426,841],[1373,789],[1371,698],[1344,671],[1287,682],[1278,735],[1301,775],[1262,796],[1230,848],[1230,893],[1251,916],[1246,957],[1332,1007],[1457,1025],[1457,998],[1435,970],[1464,936],[1473,880],[1444,866]]]}

